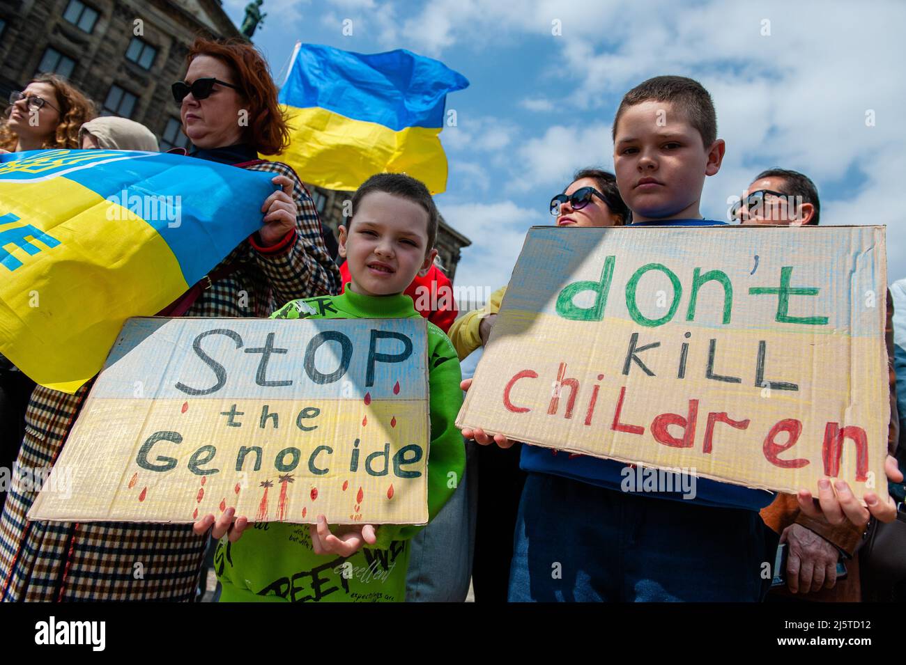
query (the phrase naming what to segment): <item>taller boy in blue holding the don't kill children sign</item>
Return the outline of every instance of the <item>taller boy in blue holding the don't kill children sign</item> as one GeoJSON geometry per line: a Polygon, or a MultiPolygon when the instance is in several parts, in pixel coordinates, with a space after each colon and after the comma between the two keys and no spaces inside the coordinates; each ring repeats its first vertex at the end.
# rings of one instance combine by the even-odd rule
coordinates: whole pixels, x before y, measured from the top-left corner
{"type": "MultiPolygon", "coordinates": [[[[632,225],[710,226],[705,176],[725,144],[708,91],[660,76],[622,100],[613,122],[617,185],[632,225]]],[[[464,430],[479,443],[491,438],[464,430]]],[[[498,445],[506,437],[496,434],[498,445]]],[[[524,445],[528,471],[510,601],[757,601],[764,560],[758,510],[771,492],[696,479],[696,498],[621,490],[626,465],[524,445]]],[[[674,483],[679,487],[681,483],[674,483]]]]}

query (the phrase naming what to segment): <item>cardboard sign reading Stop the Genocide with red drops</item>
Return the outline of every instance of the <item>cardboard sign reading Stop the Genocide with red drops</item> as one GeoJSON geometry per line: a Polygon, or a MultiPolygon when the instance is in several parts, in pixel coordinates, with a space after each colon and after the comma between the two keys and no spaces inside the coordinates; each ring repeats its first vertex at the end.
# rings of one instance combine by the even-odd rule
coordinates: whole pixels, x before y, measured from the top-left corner
{"type": "Polygon", "coordinates": [[[29,518],[424,524],[427,328],[130,318],[29,518]]]}

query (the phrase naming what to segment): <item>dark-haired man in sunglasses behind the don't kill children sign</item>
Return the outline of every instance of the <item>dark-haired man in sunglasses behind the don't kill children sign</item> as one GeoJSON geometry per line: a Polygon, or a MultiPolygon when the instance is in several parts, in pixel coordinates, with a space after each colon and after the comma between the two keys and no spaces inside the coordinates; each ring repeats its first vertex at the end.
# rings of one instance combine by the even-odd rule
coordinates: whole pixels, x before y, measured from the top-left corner
{"type": "Polygon", "coordinates": [[[817,224],[818,190],[808,176],[785,168],[769,168],[748,185],[730,210],[744,224],[817,224]]]}

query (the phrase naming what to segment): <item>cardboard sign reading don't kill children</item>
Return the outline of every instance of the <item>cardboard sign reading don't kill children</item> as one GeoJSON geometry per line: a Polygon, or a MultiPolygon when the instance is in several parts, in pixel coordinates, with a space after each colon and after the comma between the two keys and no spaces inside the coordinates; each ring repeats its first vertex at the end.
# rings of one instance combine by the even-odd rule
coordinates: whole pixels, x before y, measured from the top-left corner
{"type": "Polygon", "coordinates": [[[878,226],[536,227],[457,425],[883,498],[886,283],[878,226]]]}

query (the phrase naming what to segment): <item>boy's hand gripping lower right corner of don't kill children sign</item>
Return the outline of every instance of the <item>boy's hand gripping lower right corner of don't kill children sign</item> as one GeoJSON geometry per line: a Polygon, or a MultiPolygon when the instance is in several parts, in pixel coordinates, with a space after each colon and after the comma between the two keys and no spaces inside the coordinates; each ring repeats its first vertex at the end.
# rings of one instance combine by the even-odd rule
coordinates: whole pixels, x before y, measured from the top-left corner
{"type": "MultiPolygon", "coordinates": [[[[887,480],[902,482],[903,474],[898,468],[896,458],[892,455],[888,455],[887,460],[884,461],[884,470],[887,473],[887,480]]],[[[796,499],[799,502],[799,508],[807,516],[824,518],[834,526],[849,519],[857,527],[863,528],[872,516],[881,522],[892,522],[897,518],[897,507],[893,503],[893,499],[888,497],[887,501],[882,503],[874,492],[865,492],[864,499],[868,504],[868,508],[865,508],[843,480],[834,481],[833,488],[830,480],[826,478],[818,480],[817,505],[812,498],[812,492],[808,489],[800,489],[796,499]],[[836,489],[835,493],[834,489],[836,489]]]]}

